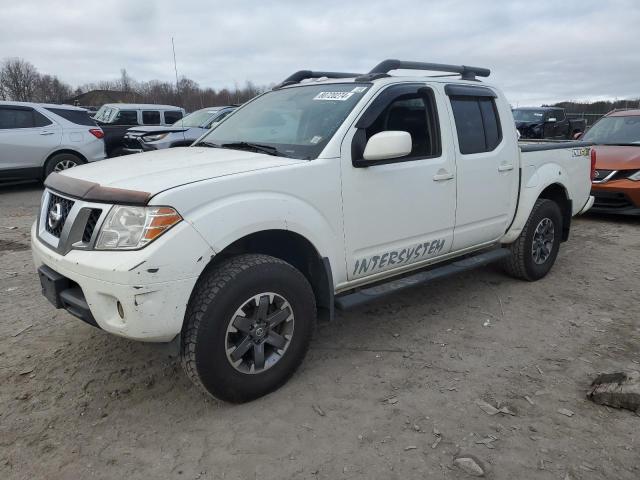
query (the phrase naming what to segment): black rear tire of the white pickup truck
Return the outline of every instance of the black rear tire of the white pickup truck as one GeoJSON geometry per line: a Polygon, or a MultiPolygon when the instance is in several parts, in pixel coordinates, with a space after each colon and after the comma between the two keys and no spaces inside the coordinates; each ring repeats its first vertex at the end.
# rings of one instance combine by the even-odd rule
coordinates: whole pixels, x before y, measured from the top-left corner
{"type": "Polygon", "coordinates": [[[529,219],[522,233],[515,242],[509,245],[511,256],[502,263],[506,272],[515,278],[533,282],[544,277],[558,256],[560,241],[562,239],[562,213],[557,203],[545,198],[539,198],[533,206],[529,219]],[[552,241],[545,242],[550,245],[548,255],[540,255],[540,250],[534,252],[534,236],[536,230],[542,225],[548,227],[548,221],[553,226],[552,241]],[[544,222],[544,223],[542,223],[544,222]],[[539,255],[536,258],[536,255],[539,255]]]}

